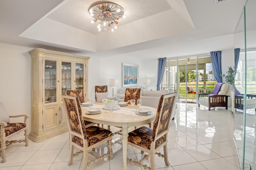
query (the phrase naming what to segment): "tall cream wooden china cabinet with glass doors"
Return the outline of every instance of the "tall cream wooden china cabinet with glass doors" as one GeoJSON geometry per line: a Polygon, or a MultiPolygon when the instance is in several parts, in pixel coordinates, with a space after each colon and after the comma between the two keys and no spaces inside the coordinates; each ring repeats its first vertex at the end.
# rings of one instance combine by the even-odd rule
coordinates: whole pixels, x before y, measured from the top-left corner
{"type": "Polygon", "coordinates": [[[41,142],[68,131],[61,95],[67,90],[83,89],[88,93],[90,57],[33,49],[31,79],[31,133],[29,138],[41,142]]]}

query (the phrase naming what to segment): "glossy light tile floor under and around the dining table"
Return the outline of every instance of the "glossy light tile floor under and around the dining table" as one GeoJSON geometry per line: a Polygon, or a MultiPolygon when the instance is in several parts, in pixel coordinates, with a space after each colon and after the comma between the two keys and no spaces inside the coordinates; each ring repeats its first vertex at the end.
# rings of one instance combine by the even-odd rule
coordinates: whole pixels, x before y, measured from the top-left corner
{"type": "MultiPolygon", "coordinates": [[[[234,115],[230,110],[217,107],[208,111],[208,107],[198,109],[196,104],[183,103],[177,103],[177,108],[168,133],[170,166],[165,166],[164,159],[156,156],[156,169],[240,170],[234,145],[234,115]]],[[[114,158],[96,162],[88,169],[122,170],[121,141],[120,135],[114,135],[114,158]]],[[[96,148],[96,152],[106,151],[104,146],[96,148]]],[[[0,170],[82,170],[82,155],[75,157],[73,164],[68,166],[68,133],[40,143],[29,141],[28,147],[13,144],[6,152],[7,161],[0,163],[0,170]]],[[[128,147],[128,158],[137,160],[142,156],[140,150],[128,147]]],[[[149,160],[145,163],[150,165],[149,160]]],[[[128,163],[127,170],[141,168],[128,163]]]]}

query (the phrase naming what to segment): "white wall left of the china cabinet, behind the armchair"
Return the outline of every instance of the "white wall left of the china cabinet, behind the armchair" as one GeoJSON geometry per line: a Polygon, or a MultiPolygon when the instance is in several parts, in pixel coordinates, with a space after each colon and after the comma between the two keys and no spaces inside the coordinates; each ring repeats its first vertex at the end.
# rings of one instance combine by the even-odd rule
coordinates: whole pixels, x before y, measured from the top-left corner
{"type": "MultiPolygon", "coordinates": [[[[30,115],[31,48],[0,43],[0,102],[9,115],[30,115]]],[[[23,122],[24,117],[11,119],[23,122]]],[[[30,130],[29,130],[30,131],[30,130]]]]}

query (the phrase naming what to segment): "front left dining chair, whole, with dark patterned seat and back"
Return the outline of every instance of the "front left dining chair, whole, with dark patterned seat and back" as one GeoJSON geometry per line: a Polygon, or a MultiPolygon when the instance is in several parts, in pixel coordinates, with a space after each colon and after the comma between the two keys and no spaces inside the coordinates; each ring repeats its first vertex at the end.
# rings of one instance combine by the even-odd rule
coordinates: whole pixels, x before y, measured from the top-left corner
{"type": "MultiPolygon", "coordinates": [[[[81,102],[77,96],[62,95],[62,100],[65,107],[65,115],[68,120],[68,131],[70,140],[70,156],[68,161],[68,166],[72,165],[73,157],[83,152],[83,166],[82,170],[86,170],[87,166],[98,162],[102,158],[112,156],[112,136],[113,133],[98,126],[86,127],[83,121],[83,115],[81,110],[81,102]],[[108,152],[100,155],[94,156],[89,150],[108,142],[108,152]],[[74,147],[80,149],[79,152],[74,154],[74,147]],[[92,156],[94,159],[88,162],[88,156],[92,156]]],[[[97,153],[97,155],[100,153],[97,153]]]]}

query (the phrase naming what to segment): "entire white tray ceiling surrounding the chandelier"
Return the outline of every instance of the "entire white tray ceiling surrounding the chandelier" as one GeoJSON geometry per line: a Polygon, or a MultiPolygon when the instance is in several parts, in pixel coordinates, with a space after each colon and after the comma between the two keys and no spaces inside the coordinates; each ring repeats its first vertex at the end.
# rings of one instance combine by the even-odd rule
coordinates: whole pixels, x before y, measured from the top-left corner
{"type": "Polygon", "coordinates": [[[0,0],[0,41],[89,57],[178,57],[234,48],[246,0],[112,0],[118,29],[98,33],[95,0],[0,0]]]}

